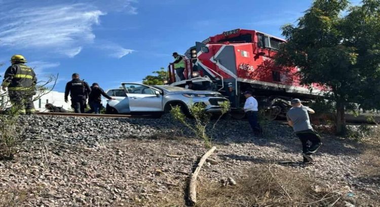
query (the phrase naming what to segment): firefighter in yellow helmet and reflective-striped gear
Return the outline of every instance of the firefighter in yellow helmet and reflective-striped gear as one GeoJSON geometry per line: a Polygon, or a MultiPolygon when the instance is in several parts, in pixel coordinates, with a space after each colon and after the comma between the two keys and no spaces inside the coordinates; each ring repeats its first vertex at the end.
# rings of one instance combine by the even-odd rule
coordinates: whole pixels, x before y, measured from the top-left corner
{"type": "Polygon", "coordinates": [[[35,112],[33,95],[37,78],[33,69],[24,65],[26,62],[21,55],[12,56],[12,66],[5,72],[2,89],[6,90],[8,87],[9,99],[18,114],[30,115],[35,112]]]}

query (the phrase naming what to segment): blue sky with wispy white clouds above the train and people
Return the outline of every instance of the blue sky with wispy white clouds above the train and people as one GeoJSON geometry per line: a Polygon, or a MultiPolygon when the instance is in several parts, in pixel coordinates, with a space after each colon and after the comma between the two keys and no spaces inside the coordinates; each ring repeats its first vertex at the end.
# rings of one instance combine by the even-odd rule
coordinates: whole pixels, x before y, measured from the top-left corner
{"type": "MultiPolygon", "coordinates": [[[[195,41],[232,29],[281,35],[311,0],[0,0],[1,75],[21,54],[43,79],[59,73],[63,91],[74,72],[103,89],[143,77],[195,41]]],[[[358,1],[355,1],[358,2],[358,1]]]]}

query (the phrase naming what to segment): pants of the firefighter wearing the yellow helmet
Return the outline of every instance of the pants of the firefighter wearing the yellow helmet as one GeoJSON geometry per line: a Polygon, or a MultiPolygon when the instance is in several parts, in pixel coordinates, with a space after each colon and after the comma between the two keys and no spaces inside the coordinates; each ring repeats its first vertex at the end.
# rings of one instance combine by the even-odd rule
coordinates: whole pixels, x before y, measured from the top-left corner
{"type": "Polygon", "coordinates": [[[9,99],[18,114],[34,114],[35,109],[31,91],[9,91],[9,99]]]}

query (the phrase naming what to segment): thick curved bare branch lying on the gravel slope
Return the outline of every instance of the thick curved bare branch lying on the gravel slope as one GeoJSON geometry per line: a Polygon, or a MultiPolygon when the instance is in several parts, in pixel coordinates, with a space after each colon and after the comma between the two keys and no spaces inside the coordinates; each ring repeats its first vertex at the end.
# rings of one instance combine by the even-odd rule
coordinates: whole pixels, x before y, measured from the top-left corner
{"type": "Polygon", "coordinates": [[[198,163],[197,168],[190,176],[190,183],[188,187],[188,199],[192,206],[194,206],[197,203],[197,177],[199,172],[201,171],[201,168],[203,164],[206,162],[207,158],[210,157],[212,152],[216,149],[215,146],[213,146],[210,150],[208,150],[201,158],[201,160],[198,163]]]}

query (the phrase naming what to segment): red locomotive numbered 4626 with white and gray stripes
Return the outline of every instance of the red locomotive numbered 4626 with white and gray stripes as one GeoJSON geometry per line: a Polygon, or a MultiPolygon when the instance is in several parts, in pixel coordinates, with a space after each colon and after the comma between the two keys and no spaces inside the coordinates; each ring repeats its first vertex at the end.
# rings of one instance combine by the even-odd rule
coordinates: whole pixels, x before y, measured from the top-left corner
{"type": "MultiPolygon", "coordinates": [[[[271,119],[284,116],[292,98],[308,101],[321,95],[321,87],[299,84],[297,68],[274,64],[284,39],[255,30],[235,29],[196,42],[185,53],[186,80],[180,81],[169,65],[168,84],[217,90],[230,99],[233,111],[244,106],[243,91],[252,90],[271,119]]],[[[236,113],[235,113],[236,114],[236,113]]]]}

